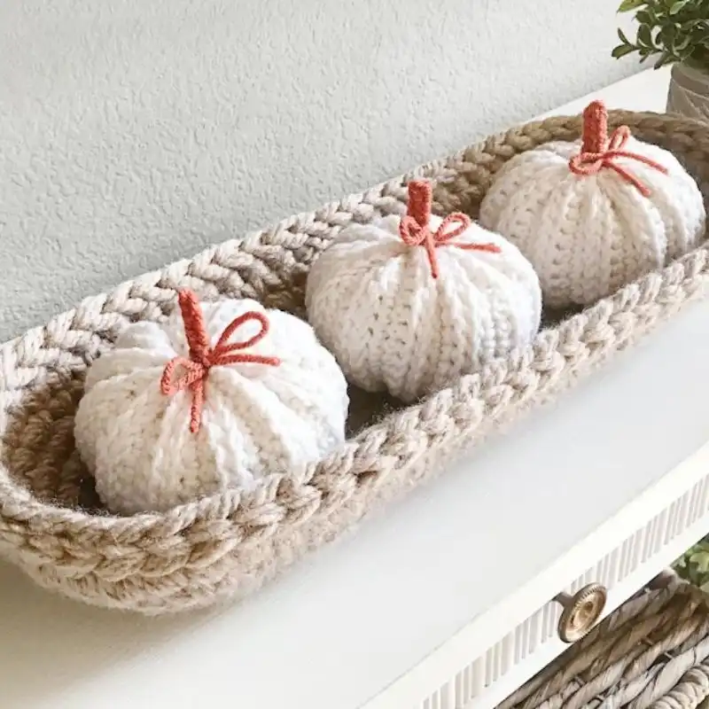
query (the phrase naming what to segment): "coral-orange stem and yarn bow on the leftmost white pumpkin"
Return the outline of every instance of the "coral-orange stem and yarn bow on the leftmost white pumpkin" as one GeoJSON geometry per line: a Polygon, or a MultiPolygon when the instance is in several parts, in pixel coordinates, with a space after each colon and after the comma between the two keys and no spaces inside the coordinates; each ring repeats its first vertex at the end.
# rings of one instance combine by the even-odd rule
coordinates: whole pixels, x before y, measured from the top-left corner
{"type": "Polygon", "coordinates": [[[205,401],[206,376],[212,367],[238,362],[255,362],[277,367],[281,361],[277,357],[265,357],[261,354],[242,353],[239,350],[248,349],[261,342],[269,332],[269,320],[263,313],[250,310],[231,321],[222,332],[214,347],[209,347],[209,335],[206,331],[204,316],[199,308],[199,300],[194,292],[184,290],[178,294],[180,311],[183,316],[184,334],[190,347],[190,357],[177,356],[168,362],[160,378],[160,392],[171,396],[177,392],[189,389],[192,394],[190,431],[196,433],[202,423],[202,408],[205,401]],[[227,344],[231,335],[241,325],[255,320],[261,323],[261,330],[253,338],[242,342],[227,344]],[[180,376],[175,373],[182,368],[180,376]]]}

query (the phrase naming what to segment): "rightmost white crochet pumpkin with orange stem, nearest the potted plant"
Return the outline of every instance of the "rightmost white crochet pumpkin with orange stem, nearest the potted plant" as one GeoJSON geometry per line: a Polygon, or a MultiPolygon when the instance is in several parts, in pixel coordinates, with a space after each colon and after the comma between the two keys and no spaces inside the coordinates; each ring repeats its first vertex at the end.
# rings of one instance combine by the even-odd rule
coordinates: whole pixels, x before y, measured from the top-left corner
{"type": "Polygon", "coordinates": [[[609,138],[607,118],[588,105],[582,141],[520,153],[480,206],[480,223],[532,261],[550,308],[604,298],[704,236],[704,200],[679,161],[626,127],[609,138]]]}

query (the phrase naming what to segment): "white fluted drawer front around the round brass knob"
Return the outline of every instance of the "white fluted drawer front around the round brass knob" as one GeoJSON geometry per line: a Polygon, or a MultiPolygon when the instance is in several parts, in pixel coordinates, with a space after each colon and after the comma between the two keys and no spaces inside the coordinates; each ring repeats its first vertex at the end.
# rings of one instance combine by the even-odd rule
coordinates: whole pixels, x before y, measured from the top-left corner
{"type": "MultiPolygon", "coordinates": [[[[685,486],[683,492],[680,487],[661,510],[654,515],[651,511],[639,520],[633,534],[619,540],[559,592],[573,595],[588,584],[601,584],[608,591],[601,618],[626,601],[709,531],[709,474],[700,479],[695,476],[690,487],[685,486]]],[[[487,651],[470,658],[458,653],[456,665],[448,655],[448,680],[440,682],[437,655],[446,649],[444,645],[365,707],[487,709],[498,705],[569,647],[558,633],[563,610],[562,604],[551,599],[517,627],[506,633],[503,628],[487,651]],[[415,696],[420,698],[411,701],[415,696]]]]}

